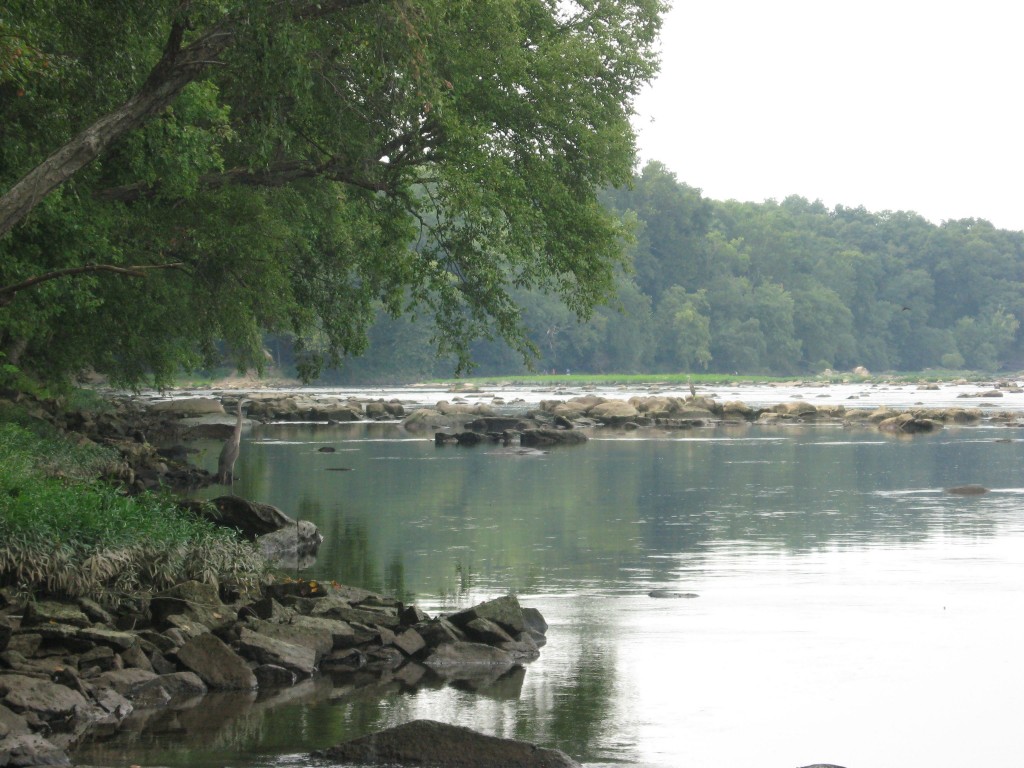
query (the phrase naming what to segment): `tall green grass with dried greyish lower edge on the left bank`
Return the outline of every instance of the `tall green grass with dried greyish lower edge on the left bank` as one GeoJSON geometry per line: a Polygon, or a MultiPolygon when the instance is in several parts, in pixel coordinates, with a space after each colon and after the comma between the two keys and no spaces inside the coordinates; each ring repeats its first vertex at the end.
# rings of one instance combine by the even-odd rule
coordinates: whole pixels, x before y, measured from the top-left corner
{"type": "Polygon", "coordinates": [[[255,586],[265,563],[252,544],[168,496],[86,479],[114,458],[0,424],[0,584],[111,605],[188,580],[255,586]]]}

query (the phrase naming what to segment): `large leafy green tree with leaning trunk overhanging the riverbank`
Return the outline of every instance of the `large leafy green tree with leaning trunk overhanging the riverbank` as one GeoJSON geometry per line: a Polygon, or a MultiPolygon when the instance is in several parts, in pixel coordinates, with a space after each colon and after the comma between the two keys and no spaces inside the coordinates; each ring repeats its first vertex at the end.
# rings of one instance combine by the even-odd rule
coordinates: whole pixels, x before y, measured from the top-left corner
{"type": "Polygon", "coordinates": [[[658,0],[13,0],[0,9],[0,349],[166,379],[378,306],[441,351],[586,315],[623,230],[658,0]]]}

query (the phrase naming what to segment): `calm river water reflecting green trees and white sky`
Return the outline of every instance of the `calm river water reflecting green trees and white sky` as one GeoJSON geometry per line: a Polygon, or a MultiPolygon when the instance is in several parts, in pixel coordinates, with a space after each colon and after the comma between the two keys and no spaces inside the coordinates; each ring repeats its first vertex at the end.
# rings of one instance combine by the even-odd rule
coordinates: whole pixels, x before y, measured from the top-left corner
{"type": "Polygon", "coordinates": [[[588,766],[1004,764],[1024,748],[1022,460],[1017,426],[912,439],[808,425],[598,430],[531,456],[438,447],[397,424],[258,426],[234,489],[321,527],[303,575],[430,613],[513,592],[550,624],[540,659],[475,686],[210,696],[76,757],[310,766],[312,750],[426,717],[588,766]],[[965,483],[991,492],[943,493],[965,483]]]}

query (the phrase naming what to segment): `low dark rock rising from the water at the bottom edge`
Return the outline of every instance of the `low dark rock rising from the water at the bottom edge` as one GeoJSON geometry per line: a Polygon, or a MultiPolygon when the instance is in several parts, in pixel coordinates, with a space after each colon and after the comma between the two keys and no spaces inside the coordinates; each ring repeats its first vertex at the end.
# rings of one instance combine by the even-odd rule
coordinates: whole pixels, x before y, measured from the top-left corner
{"type": "Polygon", "coordinates": [[[433,720],[414,720],[314,753],[314,757],[340,763],[424,768],[580,768],[559,750],[487,736],[433,720]]]}

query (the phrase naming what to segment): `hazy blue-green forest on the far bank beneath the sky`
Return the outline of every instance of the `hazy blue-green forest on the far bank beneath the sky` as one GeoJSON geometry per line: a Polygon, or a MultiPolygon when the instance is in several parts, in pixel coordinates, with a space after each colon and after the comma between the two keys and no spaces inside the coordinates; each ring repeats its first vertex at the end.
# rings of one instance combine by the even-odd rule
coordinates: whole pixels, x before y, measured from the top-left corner
{"type": "MultiPolygon", "coordinates": [[[[775,376],[929,368],[1024,368],[1024,232],[983,219],[936,225],[790,197],[708,200],[660,163],[605,196],[634,223],[617,295],[580,323],[556,298],[517,297],[537,371],[775,376]]],[[[450,376],[425,318],[381,312],[361,357],[330,383],[450,376]]],[[[287,366],[289,345],[269,339],[287,366]]],[[[528,369],[477,343],[479,375],[528,369]]]]}

